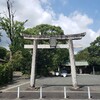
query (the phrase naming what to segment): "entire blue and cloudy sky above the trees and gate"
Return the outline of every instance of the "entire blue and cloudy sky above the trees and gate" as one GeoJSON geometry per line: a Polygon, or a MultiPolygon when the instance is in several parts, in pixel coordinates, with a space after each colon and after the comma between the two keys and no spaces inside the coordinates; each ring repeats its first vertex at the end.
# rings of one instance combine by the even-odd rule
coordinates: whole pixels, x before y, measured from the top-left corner
{"type": "MultiPolygon", "coordinates": [[[[15,20],[28,22],[26,28],[39,24],[60,26],[64,34],[86,32],[74,45],[88,47],[100,36],[100,0],[11,0],[15,20]]],[[[0,0],[0,16],[7,12],[6,0],[0,0]]],[[[3,32],[0,45],[7,47],[9,40],[3,32]]]]}

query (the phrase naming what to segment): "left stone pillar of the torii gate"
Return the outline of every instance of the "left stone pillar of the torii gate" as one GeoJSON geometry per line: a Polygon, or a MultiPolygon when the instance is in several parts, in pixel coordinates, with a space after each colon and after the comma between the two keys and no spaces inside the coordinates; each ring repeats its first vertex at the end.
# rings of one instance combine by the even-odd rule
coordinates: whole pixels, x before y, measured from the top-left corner
{"type": "Polygon", "coordinates": [[[31,87],[35,87],[35,65],[36,65],[36,50],[37,50],[37,41],[33,40],[33,54],[32,54],[32,65],[31,65],[31,77],[30,77],[30,85],[31,87]]]}

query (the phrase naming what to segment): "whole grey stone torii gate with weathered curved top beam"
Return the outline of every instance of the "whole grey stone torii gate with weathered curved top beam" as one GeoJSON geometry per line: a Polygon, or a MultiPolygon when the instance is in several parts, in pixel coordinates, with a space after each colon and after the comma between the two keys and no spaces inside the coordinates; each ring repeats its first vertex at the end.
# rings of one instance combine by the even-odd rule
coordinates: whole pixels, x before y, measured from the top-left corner
{"type": "Polygon", "coordinates": [[[36,64],[36,50],[37,48],[47,49],[47,48],[68,48],[70,63],[71,63],[71,75],[72,75],[72,85],[76,89],[77,79],[76,79],[76,67],[74,59],[74,48],[73,40],[82,39],[85,36],[84,33],[80,34],[71,34],[71,35],[26,35],[23,34],[24,39],[33,40],[32,45],[24,45],[24,48],[33,49],[32,54],[32,65],[31,65],[31,77],[30,77],[30,86],[35,87],[35,64],[36,64]],[[50,44],[37,44],[38,40],[50,40],[50,44]],[[67,44],[56,44],[56,40],[66,40],[67,44]]]}

